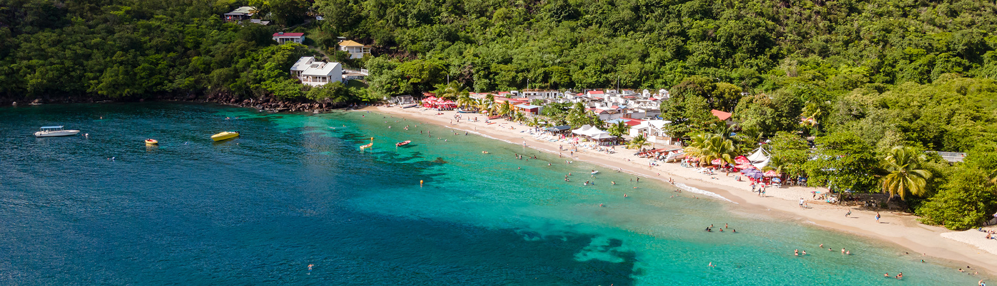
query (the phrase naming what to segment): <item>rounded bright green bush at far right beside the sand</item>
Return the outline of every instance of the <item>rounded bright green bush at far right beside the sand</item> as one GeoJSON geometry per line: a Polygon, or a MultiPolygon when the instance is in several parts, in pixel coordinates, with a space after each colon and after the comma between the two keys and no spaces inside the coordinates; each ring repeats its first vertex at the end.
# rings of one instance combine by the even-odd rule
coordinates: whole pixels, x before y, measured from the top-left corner
{"type": "Polygon", "coordinates": [[[997,188],[985,171],[976,167],[960,167],[941,190],[916,211],[921,221],[944,225],[952,230],[964,230],[991,218],[997,206],[997,188]]]}

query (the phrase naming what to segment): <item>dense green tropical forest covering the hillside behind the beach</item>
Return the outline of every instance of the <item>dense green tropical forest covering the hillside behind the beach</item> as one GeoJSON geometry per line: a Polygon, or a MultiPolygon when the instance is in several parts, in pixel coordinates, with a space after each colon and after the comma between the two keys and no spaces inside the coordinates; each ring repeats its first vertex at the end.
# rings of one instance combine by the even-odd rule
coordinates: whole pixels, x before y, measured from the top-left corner
{"type": "Polygon", "coordinates": [[[969,0],[0,0],[0,98],[667,89],[662,117],[693,147],[765,141],[790,175],[959,229],[997,210],[995,29],[997,5],[969,0]],[[240,6],[272,23],[222,19],[240,6]],[[375,57],[346,59],[337,37],[375,57]],[[305,55],[369,69],[369,87],[299,85],[305,55]]]}

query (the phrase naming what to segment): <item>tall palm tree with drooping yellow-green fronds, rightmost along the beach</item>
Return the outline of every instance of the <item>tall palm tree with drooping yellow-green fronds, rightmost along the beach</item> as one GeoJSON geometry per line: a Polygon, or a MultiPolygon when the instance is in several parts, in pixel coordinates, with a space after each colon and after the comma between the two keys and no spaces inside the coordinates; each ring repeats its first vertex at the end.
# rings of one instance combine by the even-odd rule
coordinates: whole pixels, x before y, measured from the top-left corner
{"type": "Polygon", "coordinates": [[[886,152],[880,165],[887,173],[882,177],[882,191],[889,192],[887,202],[897,194],[900,199],[905,199],[907,192],[921,195],[927,191],[927,179],[931,178],[931,172],[920,168],[925,157],[909,146],[894,146],[886,152]]]}

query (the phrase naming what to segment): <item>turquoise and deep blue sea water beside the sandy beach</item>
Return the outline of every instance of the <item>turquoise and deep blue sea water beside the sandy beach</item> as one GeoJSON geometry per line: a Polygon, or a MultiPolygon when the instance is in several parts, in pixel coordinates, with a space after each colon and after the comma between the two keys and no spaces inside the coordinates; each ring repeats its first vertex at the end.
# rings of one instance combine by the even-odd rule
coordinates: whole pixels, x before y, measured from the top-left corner
{"type": "Polygon", "coordinates": [[[0,108],[0,285],[979,280],[889,244],[632,178],[376,113],[184,103],[0,108]],[[52,125],[82,133],[32,136],[52,125]],[[242,137],[209,140],[223,131],[242,137]],[[147,138],[160,145],[146,146],[147,138]],[[361,151],[370,138],[373,149],[361,151]],[[413,143],[394,146],[406,140],[413,143]],[[725,223],[737,233],[704,231],[725,223]]]}

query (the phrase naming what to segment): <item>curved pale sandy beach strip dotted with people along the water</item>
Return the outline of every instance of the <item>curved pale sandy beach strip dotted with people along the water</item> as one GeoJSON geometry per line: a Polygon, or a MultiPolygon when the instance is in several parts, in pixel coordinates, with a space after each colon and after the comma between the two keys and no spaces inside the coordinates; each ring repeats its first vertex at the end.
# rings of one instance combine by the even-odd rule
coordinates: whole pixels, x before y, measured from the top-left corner
{"type": "MultiPolygon", "coordinates": [[[[462,114],[465,120],[454,120],[454,111],[438,112],[422,108],[401,109],[388,107],[368,107],[362,111],[375,111],[393,114],[413,120],[422,120],[430,124],[445,126],[455,130],[476,133],[497,140],[524,144],[538,150],[562,153],[565,157],[572,156],[566,143],[539,140],[529,133],[532,128],[505,120],[495,120],[486,124],[486,117],[479,114],[462,114]],[[479,122],[466,119],[478,118],[479,122]],[[565,148],[558,151],[559,146],[565,148]]],[[[985,233],[977,230],[953,232],[943,227],[925,225],[916,220],[916,216],[900,212],[879,212],[882,216],[877,222],[876,212],[850,208],[851,215],[845,217],[849,207],[839,206],[813,199],[812,191],[825,192],[827,189],[802,186],[769,187],[766,197],[760,197],[751,190],[747,181],[738,181],[735,174],[724,173],[714,175],[696,172],[695,168],[683,167],[678,163],[662,163],[649,165],[647,158],[640,158],[632,149],[617,147],[615,153],[607,153],[593,149],[578,148],[570,160],[584,160],[621,171],[657,178],[664,183],[669,178],[676,185],[687,185],[713,192],[732,201],[729,207],[733,211],[764,213],[773,217],[790,219],[803,223],[812,223],[831,230],[844,231],[862,237],[869,237],[895,243],[910,249],[910,256],[916,259],[942,259],[951,264],[969,265],[980,272],[997,273],[997,241],[985,238],[985,233]],[[799,206],[800,198],[804,198],[809,208],[799,206]],[[958,262],[958,263],[956,263],[958,262]]],[[[898,253],[898,255],[900,255],[898,253]]],[[[911,259],[915,259],[911,257],[911,259]]],[[[954,269],[953,269],[954,271],[954,269]]]]}

